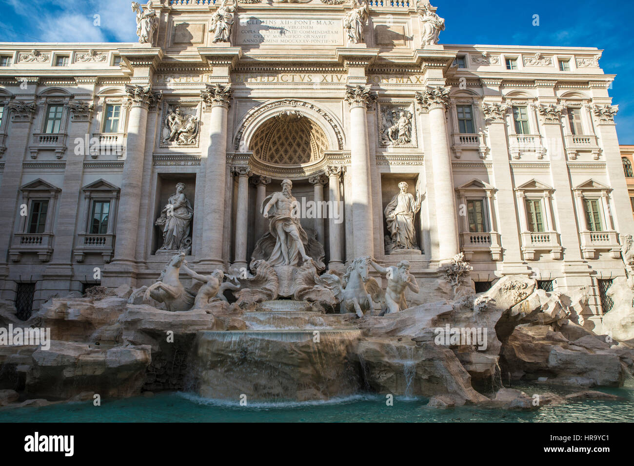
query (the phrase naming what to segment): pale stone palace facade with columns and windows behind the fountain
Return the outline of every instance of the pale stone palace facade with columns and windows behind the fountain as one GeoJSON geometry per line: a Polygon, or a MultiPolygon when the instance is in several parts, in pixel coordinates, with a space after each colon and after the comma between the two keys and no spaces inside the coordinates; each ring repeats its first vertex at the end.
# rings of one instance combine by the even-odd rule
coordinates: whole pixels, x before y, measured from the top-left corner
{"type": "Polygon", "coordinates": [[[238,273],[289,179],[330,201],[301,218],[327,267],[407,260],[411,303],[463,252],[477,291],[609,305],[634,220],[600,50],[441,45],[425,1],[133,10],[139,43],[0,44],[1,298],[150,284],[176,250],[238,273]]]}

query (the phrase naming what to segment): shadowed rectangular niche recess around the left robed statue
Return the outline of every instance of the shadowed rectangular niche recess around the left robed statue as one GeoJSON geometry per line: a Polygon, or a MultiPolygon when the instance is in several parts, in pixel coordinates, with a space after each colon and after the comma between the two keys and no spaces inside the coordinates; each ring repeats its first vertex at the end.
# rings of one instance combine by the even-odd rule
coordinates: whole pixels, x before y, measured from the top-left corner
{"type": "MultiPolygon", "coordinates": [[[[195,206],[195,198],[196,198],[196,175],[195,173],[159,173],[159,177],[157,179],[157,189],[156,189],[156,197],[155,204],[152,210],[152,218],[150,218],[149,225],[152,227],[152,254],[157,254],[157,249],[163,246],[163,229],[155,225],[157,218],[160,217],[161,211],[167,205],[169,196],[176,192],[176,184],[184,183],[185,191],[184,194],[187,196],[187,199],[190,201],[191,208],[194,210],[193,217],[191,218],[190,223],[190,236],[191,236],[191,246],[192,250],[195,248],[195,242],[197,239],[197,235],[195,234],[195,227],[197,222],[197,211],[195,206]]],[[[159,255],[169,255],[167,251],[159,251],[159,255]]],[[[174,251],[176,254],[176,251],[174,251]]]]}

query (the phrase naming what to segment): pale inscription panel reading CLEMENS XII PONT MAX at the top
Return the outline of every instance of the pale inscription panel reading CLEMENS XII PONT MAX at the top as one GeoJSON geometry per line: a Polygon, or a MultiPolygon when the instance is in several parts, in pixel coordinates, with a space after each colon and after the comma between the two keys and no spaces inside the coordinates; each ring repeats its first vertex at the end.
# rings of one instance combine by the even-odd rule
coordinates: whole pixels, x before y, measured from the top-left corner
{"type": "Polygon", "coordinates": [[[250,44],[343,45],[340,20],[240,18],[237,45],[250,44]]]}

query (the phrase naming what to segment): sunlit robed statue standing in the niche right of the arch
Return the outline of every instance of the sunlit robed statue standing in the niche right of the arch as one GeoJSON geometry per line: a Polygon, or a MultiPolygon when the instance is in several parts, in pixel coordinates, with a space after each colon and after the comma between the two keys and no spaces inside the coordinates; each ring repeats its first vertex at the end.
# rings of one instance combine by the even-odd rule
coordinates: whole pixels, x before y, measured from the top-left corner
{"type": "Polygon", "coordinates": [[[422,196],[416,192],[416,199],[407,192],[408,184],[401,181],[398,184],[401,192],[396,194],[385,207],[385,222],[389,236],[385,237],[385,249],[391,254],[394,249],[420,249],[416,241],[414,218],[420,210],[422,196]]]}

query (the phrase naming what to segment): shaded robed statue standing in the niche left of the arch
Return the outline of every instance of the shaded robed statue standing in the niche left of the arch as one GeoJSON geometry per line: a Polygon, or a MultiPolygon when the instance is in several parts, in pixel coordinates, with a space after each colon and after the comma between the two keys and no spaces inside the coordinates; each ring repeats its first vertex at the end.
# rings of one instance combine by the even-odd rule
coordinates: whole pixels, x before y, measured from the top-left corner
{"type": "Polygon", "coordinates": [[[183,193],[185,185],[178,183],[176,192],[169,196],[167,205],[160,213],[156,225],[163,227],[163,246],[159,249],[180,249],[191,248],[190,224],[193,217],[193,208],[190,201],[183,193]]]}

